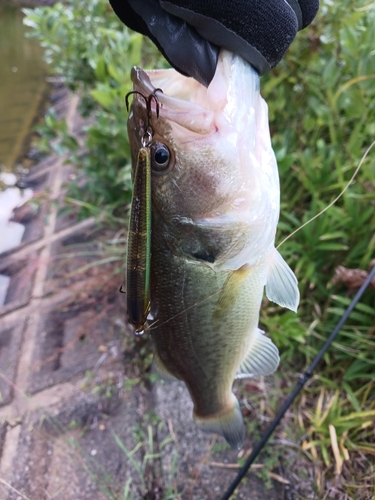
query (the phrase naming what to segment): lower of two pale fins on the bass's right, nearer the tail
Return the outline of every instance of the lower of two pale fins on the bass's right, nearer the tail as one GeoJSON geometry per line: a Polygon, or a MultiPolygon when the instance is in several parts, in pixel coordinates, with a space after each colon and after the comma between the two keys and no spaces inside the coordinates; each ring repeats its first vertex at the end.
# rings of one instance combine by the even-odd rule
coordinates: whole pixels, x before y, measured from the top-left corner
{"type": "Polygon", "coordinates": [[[236,378],[270,375],[279,365],[279,350],[272,340],[256,329],[246,358],[237,370],[236,378]]]}

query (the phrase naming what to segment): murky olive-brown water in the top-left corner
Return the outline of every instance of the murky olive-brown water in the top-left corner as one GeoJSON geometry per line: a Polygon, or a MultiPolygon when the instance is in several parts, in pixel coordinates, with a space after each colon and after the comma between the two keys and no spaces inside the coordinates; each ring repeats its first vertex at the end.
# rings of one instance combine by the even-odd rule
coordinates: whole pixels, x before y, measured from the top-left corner
{"type": "Polygon", "coordinates": [[[46,92],[46,65],[35,40],[25,37],[20,8],[0,0],[0,167],[11,171],[24,152],[46,92]]]}

